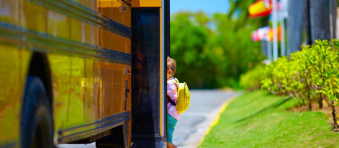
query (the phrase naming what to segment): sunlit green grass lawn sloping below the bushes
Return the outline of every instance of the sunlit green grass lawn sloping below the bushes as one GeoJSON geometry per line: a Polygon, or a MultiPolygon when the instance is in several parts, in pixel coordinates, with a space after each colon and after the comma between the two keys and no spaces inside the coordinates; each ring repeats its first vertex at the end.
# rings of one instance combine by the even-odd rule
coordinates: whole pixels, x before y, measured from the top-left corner
{"type": "Polygon", "coordinates": [[[293,99],[246,92],[230,102],[200,147],[339,147],[321,112],[286,111],[293,99]]]}

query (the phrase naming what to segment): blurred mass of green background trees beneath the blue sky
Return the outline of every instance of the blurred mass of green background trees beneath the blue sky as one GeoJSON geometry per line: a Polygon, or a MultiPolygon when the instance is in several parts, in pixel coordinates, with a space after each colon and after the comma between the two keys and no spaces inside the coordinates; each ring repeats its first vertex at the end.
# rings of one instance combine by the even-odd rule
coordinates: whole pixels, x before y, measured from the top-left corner
{"type": "Polygon", "coordinates": [[[249,19],[253,1],[231,1],[228,14],[179,12],[171,18],[171,57],[175,77],[190,88],[239,87],[239,76],[264,59],[251,32],[267,18],[249,19]]]}

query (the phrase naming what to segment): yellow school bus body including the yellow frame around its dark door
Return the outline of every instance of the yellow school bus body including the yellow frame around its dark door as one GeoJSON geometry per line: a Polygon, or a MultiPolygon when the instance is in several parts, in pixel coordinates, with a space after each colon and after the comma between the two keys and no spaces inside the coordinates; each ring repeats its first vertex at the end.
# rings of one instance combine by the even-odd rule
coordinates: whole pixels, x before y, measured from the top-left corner
{"type": "MultiPolygon", "coordinates": [[[[55,144],[123,125],[129,146],[131,7],[158,8],[153,23],[160,27],[159,61],[153,66],[159,80],[147,85],[162,90],[161,0],[0,0],[0,5],[0,147],[20,146],[21,103],[33,53],[45,55],[51,70],[55,144]]],[[[161,142],[166,141],[163,93],[154,104],[161,142]]]]}

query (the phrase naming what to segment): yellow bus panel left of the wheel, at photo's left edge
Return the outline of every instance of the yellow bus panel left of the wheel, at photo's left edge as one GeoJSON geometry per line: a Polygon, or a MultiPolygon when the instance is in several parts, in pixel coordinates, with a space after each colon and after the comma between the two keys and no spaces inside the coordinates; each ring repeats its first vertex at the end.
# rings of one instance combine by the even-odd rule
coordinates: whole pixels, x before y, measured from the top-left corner
{"type": "Polygon", "coordinates": [[[21,53],[17,46],[0,41],[0,144],[4,144],[16,142],[19,137],[21,53]]]}

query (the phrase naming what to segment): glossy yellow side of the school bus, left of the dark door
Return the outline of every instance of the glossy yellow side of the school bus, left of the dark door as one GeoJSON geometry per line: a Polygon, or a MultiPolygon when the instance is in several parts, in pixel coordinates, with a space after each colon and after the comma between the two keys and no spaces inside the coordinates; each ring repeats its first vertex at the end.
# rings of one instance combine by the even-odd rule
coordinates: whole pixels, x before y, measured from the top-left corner
{"type": "MultiPolygon", "coordinates": [[[[41,2],[47,3],[44,0],[41,2]]],[[[93,14],[97,11],[97,1],[75,2],[87,6],[93,14]]],[[[98,128],[101,125],[99,121],[107,117],[130,112],[131,95],[130,92],[125,94],[125,89],[130,91],[131,88],[131,75],[126,73],[126,68],[131,69],[131,65],[128,62],[110,60],[104,54],[115,50],[130,56],[130,38],[121,36],[121,33],[114,33],[112,29],[107,31],[107,26],[102,29],[103,27],[93,22],[88,23],[33,1],[1,0],[0,4],[2,29],[14,30],[13,33],[3,30],[7,32],[1,31],[0,34],[1,146],[20,146],[21,102],[33,52],[46,54],[51,67],[56,143],[60,142],[60,137],[67,134],[98,128]],[[13,36],[14,40],[8,39],[7,36],[13,36]],[[84,49],[84,46],[87,47],[84,49]],[[93,123],[95,126],[60,132],[93,123]]],[[[108,18],[117,19],[127,28],[130,27],[130,7],[125,9],[127,11],[119,12],[120,20],[113,16],[108,18]]],[[[112,9],[112,14],[117,14],[116,12],[118,11],[112,9]]],[[[129,116],[130,113],[124,114],[128,132],[129,116]]],[[[123,123],[125,121],[119,124],[123,123]]],[[[83,137],[93,134],[98,133],[92,132],[83,137]]],[[[127,141],[130,142],[130,139],[127,141]]]]}

